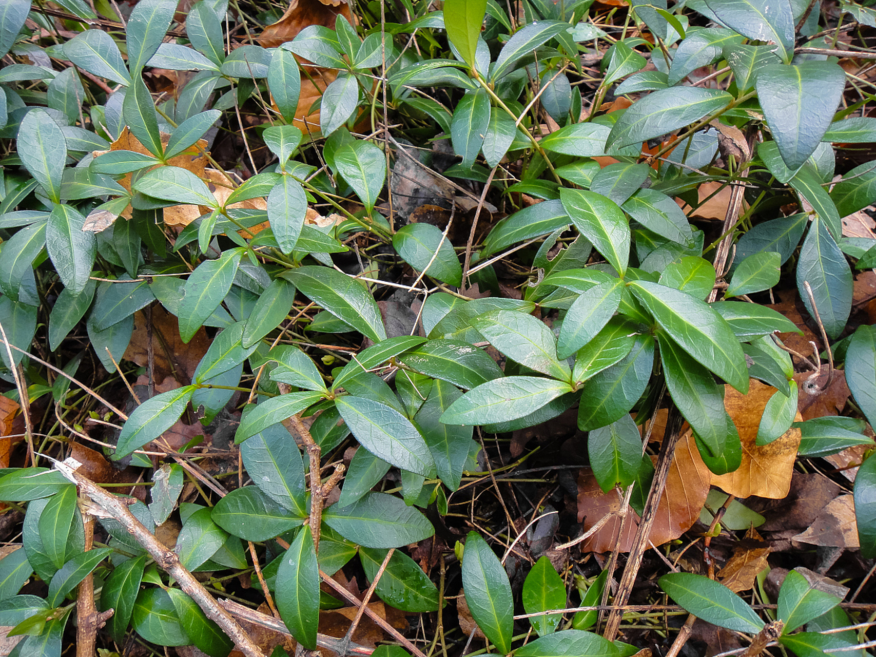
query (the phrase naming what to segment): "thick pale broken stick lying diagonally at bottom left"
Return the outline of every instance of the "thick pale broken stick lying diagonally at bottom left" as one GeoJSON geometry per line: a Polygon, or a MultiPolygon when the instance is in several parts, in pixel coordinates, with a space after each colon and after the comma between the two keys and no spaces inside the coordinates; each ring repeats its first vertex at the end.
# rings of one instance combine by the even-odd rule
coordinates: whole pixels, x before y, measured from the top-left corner
{"type": "Polygon", "coordinates": [[[67,479],[77,484],[80,490],[88,495],[92,501],[100,506],[104,511],[108,512],[113,518],[117,519],[128,533],[134,537],[137,542],[142,545],[146,552],[155,560],[161,569],[173,577],[180,583],[180,589],[184,590],[188,597],[191,597],[198,606],[207,614],[207,618],[219,625],[223,632],[228,634],[229,638],[234,641],[235,645],[240,648],[240,651],[247,657],[265,657],[250,636],[244,632],[237,621],[231,618],[228,611],[224,607],[216,603],[215,598],[210,595],[209,591],[204,588],[203,584],[198,582],[194,576],[180,564],[180,557],[173,550],[169,550],[162,545],[148,529],[134,517],[131,510],[120,498],[104,491],[94,482],[77,474],[73,468],[67,463],[55,463],[55,467],[67,479]]]}

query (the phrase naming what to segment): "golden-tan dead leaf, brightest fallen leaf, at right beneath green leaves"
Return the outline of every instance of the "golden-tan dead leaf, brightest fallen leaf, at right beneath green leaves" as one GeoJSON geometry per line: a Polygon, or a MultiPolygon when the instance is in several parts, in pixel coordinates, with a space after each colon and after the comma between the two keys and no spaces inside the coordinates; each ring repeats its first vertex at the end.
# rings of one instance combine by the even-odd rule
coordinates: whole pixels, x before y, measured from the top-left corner
{"type": "MultiPolygon", "coordinates": [[[[730,385],[724,386],[724,408],[730,413],[739,432],[742,463],[734,472],[712,475],[711,483],[728,495],[738,498],[757,495],[759,498],[773,499],[788,495],[794,461],[800,447],[800,429],[792,427],[768,445],[754,444],[764,407],[777,392],[772,385],[762,384],[753,378],[745,395],[730,385]]],[[[802,420],[799,412],[795,420],[802,420]]]]}

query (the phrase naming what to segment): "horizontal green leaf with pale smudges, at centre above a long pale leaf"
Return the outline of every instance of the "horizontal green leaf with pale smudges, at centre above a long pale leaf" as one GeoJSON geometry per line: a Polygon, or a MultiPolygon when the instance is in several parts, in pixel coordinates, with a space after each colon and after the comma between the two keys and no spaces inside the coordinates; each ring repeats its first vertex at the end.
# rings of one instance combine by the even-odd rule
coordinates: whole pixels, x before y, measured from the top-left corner
{"type": "Polygon", "coordinates": [[[502,376],[496,361],[484,350],[456,340],[429,340],[402,354],[398,360],[413,371],[449,381],[466,390],[502,376]]]}

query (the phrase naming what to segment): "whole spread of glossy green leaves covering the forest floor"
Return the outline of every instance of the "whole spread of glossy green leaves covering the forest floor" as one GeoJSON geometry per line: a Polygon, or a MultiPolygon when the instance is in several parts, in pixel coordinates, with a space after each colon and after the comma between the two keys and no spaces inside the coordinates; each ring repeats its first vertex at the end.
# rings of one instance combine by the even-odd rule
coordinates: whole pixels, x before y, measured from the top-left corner
{"type": "MultiPolygon", "coordinates": [[[[819,11],[796,0],[689,2],[672,12],[665,2],[633,2],[630,16],[646,26],[649,41],[626,30],[604,32],[588,19],[591,2],[522,3],[519,27],[485,0],[447,0],[444,11],[419,13],[411,5],[416,18],[406,25],[366,30],[339,16],[335,30],[312,25],[279,47],[249,44],[226,53],[228,7],[222,0],[194,4],[186,43],[165,40],[175,2],[141,0],[124,38],[89,28],[40,53],[46,62],[68,62],[60,73],[17,44],[28,36],[29,15],[37,25],[45,19],[29,13],[29,0],[4,4],[0,53],[37,62],[0,69],[0,135],[17,139],[17,155],[3,162],[0,201],[0,325],[9,345],[0,356],[7,378],[22,366],[19,376],[29,384],[44,381],[44,371],[26,355],[38,329],[55,351],[80,322],[96,357],[114,371],[113,357],[119,360],[131,341],[135,314],[155,301],[177,318],[183,343],[201,327],[221,329],[190,384],[137,406],[109,456],[133,455],[133,465],[151,468],[136,452],[159,439],[189,405],[207,424],[250,384],[258,403],[244,406],[235,442],[253,485],[230,491],[212,507],[180,505],[175,550],[190,570],[246,569],[242,540],[271,543],[268,554],[276,558],[265,568],[266,583],[303,646],[316,645],[324,602],[320,570],[332,574],[358,555],[372,578],[388,550],[434,533],[420,509],[435,505],[446,512],[464,472],[477,469],[474,426],[505,433],[577,406],[578,427],[589,432],[590,465],[604,491],[630,485],[648,490],[653,463],[643,456],[636,423],[653,417],[664,390],[718,475],[737,470],[743,452],[719,381],[739,392],[750,378],[773,385],[779,392],[760,420],[758,443],[786,434],[799,392],[791,357],[774,334],[798,329],[748,297],[775,286],[782,267],[795,275],[830,346],[844,353],[837,361],[844,362],[860,412],[876,421],[876,329],[846,329],[850,263],[872,267],[876,245],[844,237],[841,223],[876,198],[873,162],[844,173],[827,190],[835,173],[834,144],[876,141],[876,119],[854,116],[863,101],[837,111],[846,75],[836,60],[795,54],[798,36],[808,39],[809,49],[832,45],[830,37],[818,36],[819,11]],[[401,35],[437,46],[442,34],[449,50],[402,47],[401,35]],[[591,79],[580,55],[593,43],[609,47],[583,119],[582,88],[591,79]],[[312,69],[299,60],[336,74],[319,102],[324,139],[314,138],[315,124],[307,124],[307,139],[297,127],[304,126],[301,71],[309,79],[312,69]],[[653,67],[646,69],[648,63],[653,67]],[[689,74],[711,65],[722,71],[721,88],[688,83],[689,74]],[[147,67],[197,73],[178,97],[156,106],[144,79],[147,67]],[[79,71],[117,88],[99,98],[95,88],[86,93],[79,71]],[[434,88],[451,99],[452,110],[440,94],[428,93],[434,88]],[[602,114],[610,89],[635,100],[602,114]],[[266,97],[272,99],[265,107],[271,118],[261,137],[272,166],[240,185],[230,178],[217,183],[203,167],[195,173],[192,160],[208,156],[201,138],[223,121],[223,112],[266,97]],[[482,183],[505,167],[509,177],[517,176],[503,190],[507,202],[519,198],[514,193],[540,202],[515,208],[473,253],[469,244],[471,259],[467,255],[464,265],[447,231],[427,223],[396,230],[380,205],[389,141],[381,148],[350,132],[363,118],[374,124],[391,111],[406,125],[434,124],[429,137],[437,131],[449,136],[460,161],[448,175],[482,183]],[[548,134],[541,133],[545,117],[556,125],[548,134]],[[743,131],[760,136],[756,149],[743,131]],[[738,135],[735,154],[722,141],[727,134],[738,135]],[[640,161],[643,142],[661,138],[668,142],[658,156],[666,157],[640,161]],[[314,155],[324,162],[321,168],[310,163],[314,155]],[[752,187],[757,195],[744,212],[728,217],[715,244],[706,244],[703,230],[674,197],[696,199],[697,188],[714,181],[752,187]],[[217,194],[217,185],[230,193],[217,194]],[[358,205],[338,201],[347,197],[358,205]],[[244,201],[259,202],[242,207],[244,201]],[[316,202],[335,208],[340,220],[307,222],[308,205],[316,202]],[[792,202],[802,211],[778,216],[792,202]],[[171,230],[162,215],[183,207],[194,208],[197,218],[171,230]],[[373,292],[380,279],[336,266],[333,254],[349,251],[348,237],[358,233],[391,247],[397,260],[418,272],[409,287],[424,295],[421,336],[413,335],[416,330],[388,335],[373,292]],[[732,263],[706,258],[722,240],[736,240],[732,263]],[[470,299],[451,289],[467,285],[475,272],[488,286],[506,250],[534,242],[538,249],[527,251],[527,258],[541,275],[522,299],[470,299]],[[558,245],[563,248],[555,255],[558,245]],[[423,280],[437,287],[418,287],[423,280]],[[320,312],[304,319],[293,313],[302,300],[320,312]],[[537,308],[555,313],[553,329],[533,315],[537,308]],[[307,336],[347,336],[351,342],[364,336],[370,346],[326,371],[314,361],[318,345],[307,351],[297,346],[313,344],[305,329],[307,336]],[[477,343],[501,352],[504,369],[477,343]],[[395,372],[393,385],[376,373],[387,368],[395,372]],[[323,454],[350,434],[362,448],[340,500],[322,514],[319,532],[306,522],[305,463],[282,425],[316,413],[309,432],[323,454]],[[400,471],[401,497],[371,491],[392,467],[400,471]],[[321,535],[318,552],[314,533],[321,535]],[[288,544],[285,552],[277,548],[278,537],[288,544]]],[[[83,20],[97,18],[78,0],[60,4],[83,20]]],[[[859,21],[871,19],[864,8],[844,9],[859,21]]],[[[70,359],[61,369],[73,376],[80,361],[70,359]]],[[[81,393],[68,388],[35,390],[71,405],[81,393]]],[[[810,422],[802,425],[806,440],[799,456],[872,444],[854,420],[810,422]]],[[[180,466],[165,466],[155,479],[152,505],[131,505],[145,526],[160,525],[173,512],[182,477],[180,466]]],[[[855,487],[866,557],[876,556],[873,491],[876,458],[863,464],[855,487]]],[[[17,625],[16,632],[28,635],[19,654],[60,654],[73,607],[65,600],[98,568],[101,607],[115,610],[108,625],[114,639],[121,641],[130,625],[159,645],[194,643],[209,654],[230,650],[229,639],[116,522],[102,521],[111,536],[108,547],[84,550],[75,488],[57,471],[9,472],[0,478],[0,499],[28,502],[24,548],[0,561],[0,625],[17,625]],[[32,574],[48,583],[46,597],[16,595],[32,574]]],[[[510,652],[511,588],[477,533],[465,541],[462,578],[473,618],[499,652],[510,652]]],[[[732,623],[696,604],[697,596],[726,597],[713,584],[681,576],[661,581],[703,618],[759,632],[762,622],[736,598],[727,603],[740,619],[732,623]]],[[[597,591],[592,596],[601,595],[603,585],[591,587],[597,591]]],[[[836,604],[824,606],[820,598],[802,604],[808,594],[801,591],[796,580],[782,589],[786,632],[836,604]]],[[[399,551],[376,592],[403,611],[437,610],[442,595],[399,551]]],[[[562,607],[566,598],[553,567],[538,562],[524,588],[526,611],[562,607]]],[[[591,616],[579,614],[559,632],[560,618],[533,617],[541,638],[516,653],[634,652],[586,632],[591,616]]],[[[785,634],[781,642],[806,655],[837,645],[809,634],[785,634]]]]}

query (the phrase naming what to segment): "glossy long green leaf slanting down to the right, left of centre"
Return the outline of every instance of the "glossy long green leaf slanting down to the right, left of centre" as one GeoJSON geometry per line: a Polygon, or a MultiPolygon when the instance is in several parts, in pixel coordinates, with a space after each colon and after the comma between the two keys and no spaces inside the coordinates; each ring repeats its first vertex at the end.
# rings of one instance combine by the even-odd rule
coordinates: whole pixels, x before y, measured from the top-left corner
{"type": "Polygon", "coordinates": [[[375,343],[386,339],[378,305],[357,279],[329,267],[311,265],[285,272],[282,277],[375,343]]]}

